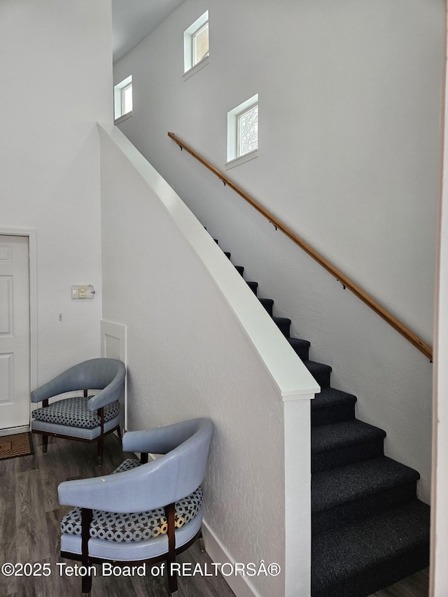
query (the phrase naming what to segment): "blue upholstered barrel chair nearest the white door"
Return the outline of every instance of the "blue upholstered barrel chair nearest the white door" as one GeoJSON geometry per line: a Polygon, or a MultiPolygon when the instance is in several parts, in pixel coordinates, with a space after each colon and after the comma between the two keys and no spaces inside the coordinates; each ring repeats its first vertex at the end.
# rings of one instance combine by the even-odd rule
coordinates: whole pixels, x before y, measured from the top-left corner
{"type": "Polygon", "coordinates": [[[114,358],[93,358],[70,367],[31,392],[31,402],[42,407],[31,412],[31,432],[40,433],[43,454],[48,437],[64,437],[78,442],[97,442],[98,465],[102,465],[104,435],[118,430],[120,397],[125,388],[126,368],[114,358]],[[100,390],[89,396],[89,391],[100,390]],[[82,396],[62,398],[50,405],[54,396],[83,391],[82,396]]]}

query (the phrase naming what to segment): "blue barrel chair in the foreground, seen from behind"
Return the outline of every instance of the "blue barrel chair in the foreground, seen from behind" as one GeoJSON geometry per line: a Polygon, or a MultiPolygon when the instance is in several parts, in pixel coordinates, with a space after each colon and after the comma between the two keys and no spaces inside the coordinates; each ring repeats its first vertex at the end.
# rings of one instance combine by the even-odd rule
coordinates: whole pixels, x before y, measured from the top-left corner
{"type": "Polygon", "coordinates": [[[75,506],[61,522],[61,556],[85,567],[83,594],[92,587],[89,567],[104,562],[166,561],[169,590],[177,590],[172,563],[201,532],[212,429],[209,419],[193,419],[125,433],[123,449],[140,452],[140,462],[128,459],[106,477],[59,485],[59,502],[75,506]],[[148,453],[163,456],[148,463],[148,453]]]}

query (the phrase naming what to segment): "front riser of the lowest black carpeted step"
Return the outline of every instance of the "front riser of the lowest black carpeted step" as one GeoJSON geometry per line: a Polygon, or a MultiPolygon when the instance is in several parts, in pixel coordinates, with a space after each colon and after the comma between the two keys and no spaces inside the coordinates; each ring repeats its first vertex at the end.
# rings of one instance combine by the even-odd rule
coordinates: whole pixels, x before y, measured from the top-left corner
{"type": "Polygon", "coordinates": [[[363,570],[359,575],[336,582],[328,589],[316,590],[311,587],[311,597],[368,597],[428,565],[429,543],[425,543],[363,570]]]}

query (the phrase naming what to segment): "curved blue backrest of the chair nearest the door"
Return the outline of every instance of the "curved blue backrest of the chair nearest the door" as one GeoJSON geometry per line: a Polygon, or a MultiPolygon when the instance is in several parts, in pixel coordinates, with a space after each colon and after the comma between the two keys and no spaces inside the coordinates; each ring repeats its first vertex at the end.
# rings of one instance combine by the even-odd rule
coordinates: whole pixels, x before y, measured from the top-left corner
{"type": "Polygon", "coordinates": [[[120,398],[126,374],[125,364],[115,358],[92,358],[70,367],[57,377],[31,392],[31,402],[41,402],[64,392],[103,390],[116,386],[116,400],[120,398]]]}

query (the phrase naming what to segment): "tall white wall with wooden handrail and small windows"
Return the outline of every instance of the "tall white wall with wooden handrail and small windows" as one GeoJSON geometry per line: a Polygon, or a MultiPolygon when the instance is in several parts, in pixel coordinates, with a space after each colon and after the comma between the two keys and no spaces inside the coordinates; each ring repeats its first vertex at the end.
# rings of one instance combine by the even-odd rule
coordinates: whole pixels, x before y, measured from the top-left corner
{"type": "Polygon", "coordinates": [[[293,318],[386,452],[429,499],[432,365],[167,138],[223,168],[226,114],[259,94],[259,157],[228,172],[432,342],[443,0],[186,0],[118,62],[120,128],[293,318]],[[184,81],[183,31],[210,15],[210,62],[184,81]]]}

